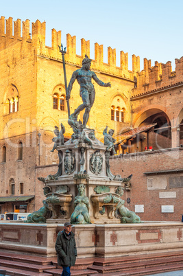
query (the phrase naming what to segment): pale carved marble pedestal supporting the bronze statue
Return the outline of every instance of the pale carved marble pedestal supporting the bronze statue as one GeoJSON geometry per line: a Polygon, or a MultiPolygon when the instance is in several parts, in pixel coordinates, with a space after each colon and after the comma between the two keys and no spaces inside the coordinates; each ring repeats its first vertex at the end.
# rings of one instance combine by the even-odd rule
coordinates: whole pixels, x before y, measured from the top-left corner
{"type": "MultiPolygon", "coordinates": [[[[62,210],[66,211],[67,216],[64,216],[64,214],[60,214],[58,218],[52,216],[47,220],[47,223],[64,223],[66,221],[70,221],[71,214],[75,208],[74,198],[77,196],[77,185],[79,184],[84,184],[86,187],[85,194],[89,198],[90,202],[89,214],[91,223],[120,223],[120,219],[114,217],[114,210],[117,204],[104,206],[101,202],[97,204],[92,200],[92,198],[97,195],[97,192],[95,192],[95,188],[97,186],[103,187],[104,194],[105,187],[109,191],[108,194],[115,194],[117,187],[121,187],[121,181],[111,181],[107,176],[105,159],[106,146],[103,146],[103,143],[97,139],[95,140],[96,141],[93,142],[93,148],[88,146],[86,143],[80,143],[76,148],[75,143],[71,143],[71,141],[57,148],[58,151],[62,152],[62,162],[60,162],[60,170],[62,171],[62,175],[60,175],[56,180],[47,181],[45,185],[51,189],[51,193],[53,194],[58,192],[60,186],[67,186],[67,194],[71,194],[72,200],[71,203],[67,205],[67,208],[66,205],[62,205],[62,210]],[[70,152],[70,159],[67,156],[67,152],[70,152]],[[96,154],[97,161],[93,161],[96,154]],[[70,163],[68,159],[69,161],[71,160],[70,163]],[[104,214],[102,211],[105,211],[104,214]]],[[[65,194],[65,196],[67,194],[65,194]]],[[[106,196],[108,194],[106,193],[106,196]]],[[[98,196],[102,195],[98,194],[98,196]]],[[[116,196],[119,195],[116,194],[116,196]]]]}

